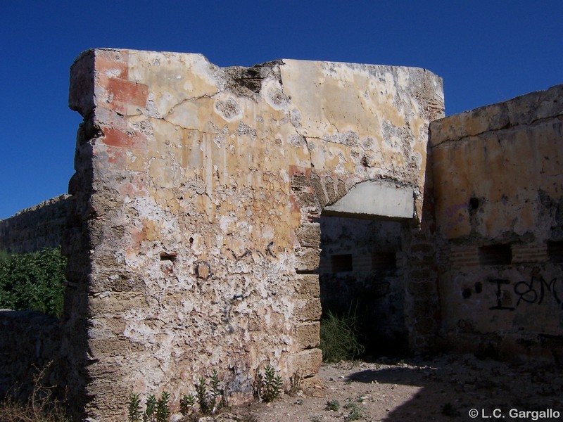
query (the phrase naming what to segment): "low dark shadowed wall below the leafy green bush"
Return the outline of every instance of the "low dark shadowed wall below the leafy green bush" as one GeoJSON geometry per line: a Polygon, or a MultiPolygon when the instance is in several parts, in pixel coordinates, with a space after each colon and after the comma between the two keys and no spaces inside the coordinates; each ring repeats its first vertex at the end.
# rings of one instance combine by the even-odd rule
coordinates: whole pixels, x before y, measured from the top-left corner
{"type": "Polygon", "coordinates": [[[60,322],[35,311],[0,309],[0,397],[26,399],[34,377],[45,370],[42,385],[56,385],[60,322]]]}

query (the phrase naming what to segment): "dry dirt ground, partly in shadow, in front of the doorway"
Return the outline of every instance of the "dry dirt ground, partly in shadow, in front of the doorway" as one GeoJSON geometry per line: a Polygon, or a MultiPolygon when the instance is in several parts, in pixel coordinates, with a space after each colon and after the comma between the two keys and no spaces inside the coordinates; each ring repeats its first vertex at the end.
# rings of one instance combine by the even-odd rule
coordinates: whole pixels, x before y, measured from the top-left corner
{"type": "Polygon", "coordinates": [[[324,364],[320,379],[320,385],[296,395],[234,407],[207,420],[563,421],[562,369],[545,363],[507,364],[469,354],[399,362],[383,358],[324,364]],[[522,413],[546,409],[552,412],[522,413]]]}

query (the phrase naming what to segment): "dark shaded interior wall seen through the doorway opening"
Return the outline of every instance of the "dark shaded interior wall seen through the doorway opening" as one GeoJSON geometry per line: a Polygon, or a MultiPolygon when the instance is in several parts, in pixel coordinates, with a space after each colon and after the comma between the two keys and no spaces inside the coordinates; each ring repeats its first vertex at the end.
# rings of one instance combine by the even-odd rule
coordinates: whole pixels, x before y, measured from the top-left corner
{"type": "Polygon", "coordinates": [[[358,317],[365,354],[407,351],[401,223],[321,217],[323,314],[358,317]]]}

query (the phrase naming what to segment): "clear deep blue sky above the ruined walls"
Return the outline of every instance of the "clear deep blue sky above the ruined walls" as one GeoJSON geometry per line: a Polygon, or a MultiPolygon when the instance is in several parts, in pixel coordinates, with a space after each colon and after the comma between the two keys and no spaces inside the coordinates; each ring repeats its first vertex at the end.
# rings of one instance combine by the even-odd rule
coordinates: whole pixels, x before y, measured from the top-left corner
{"type": "Polygon", "coordinates": [[[563,0],[1,0],[0,219],[67,191],[68,70],[94,47],[416,66],[450,115],[563,83],[563,0]]]}

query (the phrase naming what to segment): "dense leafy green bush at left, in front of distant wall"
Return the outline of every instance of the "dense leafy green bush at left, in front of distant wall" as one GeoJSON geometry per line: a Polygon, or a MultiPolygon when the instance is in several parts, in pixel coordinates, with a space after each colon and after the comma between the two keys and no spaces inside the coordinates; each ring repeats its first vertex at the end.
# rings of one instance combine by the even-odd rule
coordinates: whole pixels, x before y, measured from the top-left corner
{"type": "Polygon", "coordinates": [[[66,260],[61,248],[0,254],[0,308],[63,314],[66,260]]]}

